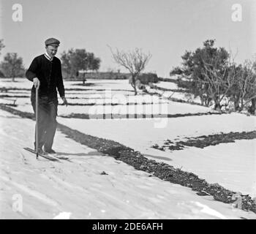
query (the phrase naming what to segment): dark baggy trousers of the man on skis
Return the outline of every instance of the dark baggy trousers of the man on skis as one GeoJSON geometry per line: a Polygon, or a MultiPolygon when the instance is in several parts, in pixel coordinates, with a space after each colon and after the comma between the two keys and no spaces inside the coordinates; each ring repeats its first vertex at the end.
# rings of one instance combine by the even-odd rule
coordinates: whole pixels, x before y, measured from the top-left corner
{"type": "MultiPolygon", "coordinates": [[[[36,113],[36,95],[31,94],[31,104],[36,113]]],[[[50,150],[53,146],[53,138],[57,127],[58,99],[47,96],[38,97],[38,147],[45,146],[50,150]]],[[[35,137],[36,139],[36,137],[35,137]]],[[[36,146],[36,140],[34,141],[36,146]]]]}

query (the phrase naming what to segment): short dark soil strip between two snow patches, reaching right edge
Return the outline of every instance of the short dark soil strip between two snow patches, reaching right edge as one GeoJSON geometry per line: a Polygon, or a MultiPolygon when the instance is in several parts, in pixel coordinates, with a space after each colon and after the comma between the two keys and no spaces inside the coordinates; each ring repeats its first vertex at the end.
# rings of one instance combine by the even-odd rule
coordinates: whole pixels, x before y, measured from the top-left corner
{"type": "Polygon", "coordinates": [[[182,150],[186,146],[205,148],[207,146],[216,146],[220,143],[233,143],[235,140],[250,140],[256,138],[256,131],[252,132],[229,132],[220,133],[214,135],[203,135],[200,137],[191,137],[186,141],[171,141],[165,140],[163,146],[155,144],[152,148],[157,148],[161,151],[170,150],[177,151],[182,150]]]}

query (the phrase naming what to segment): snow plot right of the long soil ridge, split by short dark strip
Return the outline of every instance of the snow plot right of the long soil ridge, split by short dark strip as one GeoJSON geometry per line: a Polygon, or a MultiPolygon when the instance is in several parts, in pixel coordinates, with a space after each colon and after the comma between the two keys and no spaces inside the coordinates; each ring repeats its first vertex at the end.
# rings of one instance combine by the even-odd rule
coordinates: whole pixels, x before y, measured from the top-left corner
{"type": "Polygon", "coordinates": [[[255,140],[236,140],[206,148],[159,151],[165,140],[186,140],[220,132],[249,132],[256,129],[256,117],[233,113],[161,119],[83,120],[58,118],[61,124],[89,135],[116,140],[140,151],[149,159],[191,171],[209,183],[219,183],[234,191],[256,197],[255,140]]]}

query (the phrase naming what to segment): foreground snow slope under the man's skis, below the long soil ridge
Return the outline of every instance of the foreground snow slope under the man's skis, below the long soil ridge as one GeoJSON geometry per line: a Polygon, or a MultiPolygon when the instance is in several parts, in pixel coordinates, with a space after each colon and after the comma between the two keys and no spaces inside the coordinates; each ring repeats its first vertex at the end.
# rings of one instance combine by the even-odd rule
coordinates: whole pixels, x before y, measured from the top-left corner
{"type": "Polygon", "coordinates": [[[1,219],[256,219],[252,212],[148,177],[60,132],[54,148],[72,162],[37,160],[23,150],[32,147],[34,121],[0,110],[0,125],[1,219]]]}

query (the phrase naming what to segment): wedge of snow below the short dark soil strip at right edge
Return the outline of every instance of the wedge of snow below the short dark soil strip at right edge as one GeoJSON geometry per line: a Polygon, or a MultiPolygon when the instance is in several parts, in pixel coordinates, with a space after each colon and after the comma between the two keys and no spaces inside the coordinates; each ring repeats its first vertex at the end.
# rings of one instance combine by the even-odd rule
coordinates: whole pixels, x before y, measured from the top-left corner
{"type": "Polygon", "coordinates": [[[193,147],[175,151],[169,163],[182,166],[182,170],[192,171],[209,183],[218,182],[227,189],[256,197],[255,152],[256,139],[236,140],[203,149],[193,147]]]}

